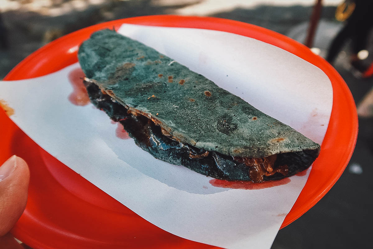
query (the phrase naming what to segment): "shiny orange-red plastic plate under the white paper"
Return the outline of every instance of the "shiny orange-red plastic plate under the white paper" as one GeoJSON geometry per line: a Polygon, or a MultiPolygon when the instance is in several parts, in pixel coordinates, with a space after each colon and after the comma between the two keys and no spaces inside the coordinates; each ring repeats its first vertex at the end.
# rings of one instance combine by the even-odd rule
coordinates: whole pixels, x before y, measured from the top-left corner
{"type": "MultiPolygon", "coordinates": [[[[47,44],[19,63],[4,80],[38,77],[75,63],[79,44],[92,32],[102,28],[118,29],[123,23],[204,28],[245,35],[285,49],[318,66],[333,85],[332,114],[320,156],[314,162],[308,181],[282,227],[315,205],[341,176],[354,150],[358,130],[357,113],[350,90],[335,69],[307,47],[284,35],[251,24],[186,16],[142,16],[106,22],[47,44]]],[[[46,153],[10,121],[2,109],[0,124],[0,163],[16,154],[23,157],[30,166],[28,203],[12,233],[31,247],[212,247],[182,239],[145,221],[46,153]]]]}

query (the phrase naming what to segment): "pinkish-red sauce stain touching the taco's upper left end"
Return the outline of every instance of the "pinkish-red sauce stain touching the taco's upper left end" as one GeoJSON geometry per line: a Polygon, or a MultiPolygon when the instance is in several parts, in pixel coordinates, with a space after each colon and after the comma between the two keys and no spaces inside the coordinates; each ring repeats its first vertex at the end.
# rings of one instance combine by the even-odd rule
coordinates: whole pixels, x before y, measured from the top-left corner
{"type": "Polygon", "coordinates": [[[69,101],[76,106],[85,106],[90,103],[87,89],[83,84],[84,72],[81,68],[76,68],[69,73],[69,81],[73,87],[73,92],[69,95],[69,101]]]}

